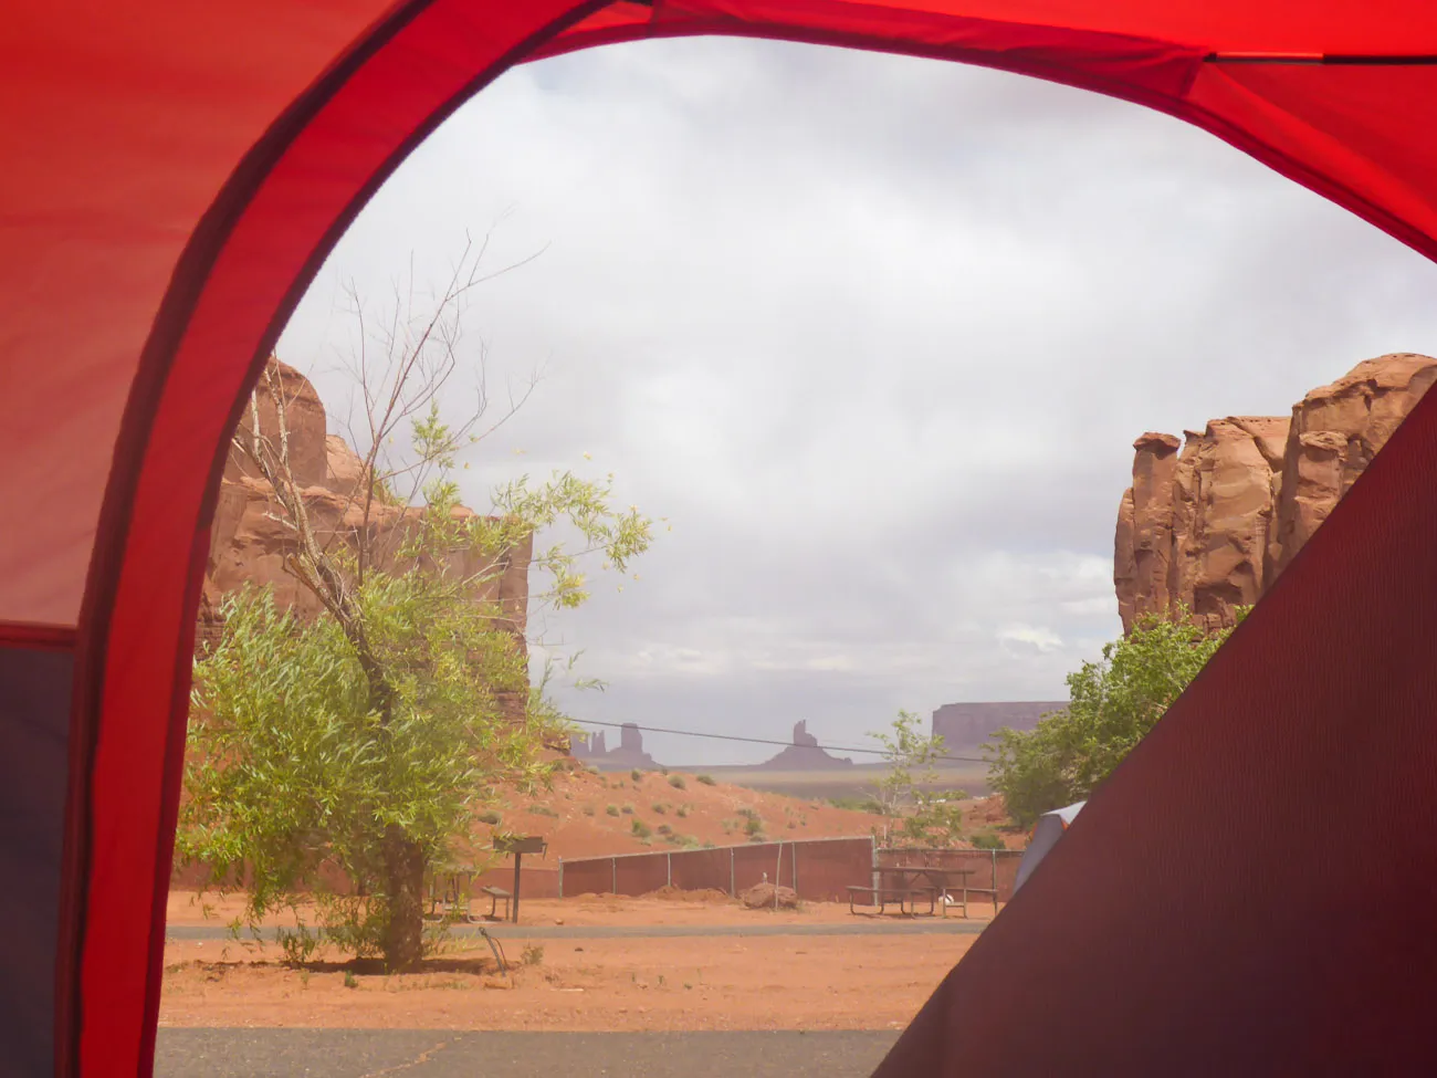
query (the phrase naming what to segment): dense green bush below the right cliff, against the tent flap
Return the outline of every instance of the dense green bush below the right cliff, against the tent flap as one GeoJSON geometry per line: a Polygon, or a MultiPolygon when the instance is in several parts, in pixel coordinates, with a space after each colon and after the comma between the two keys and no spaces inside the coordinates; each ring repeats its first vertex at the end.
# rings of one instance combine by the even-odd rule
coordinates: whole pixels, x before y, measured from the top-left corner
{"type": "MultiPolygon", "coordinates": [[[[1237,611],[1237,621],[1247,608],[1237,611]]],[[[1206,632],[1183,607],[1140,618],[1102,658],[1068,676],[1066,710],[1030,732],[999,730],[989,782],[1019,826],[1086,798],[1157,724],[1232,628],[1206,632]]]]}

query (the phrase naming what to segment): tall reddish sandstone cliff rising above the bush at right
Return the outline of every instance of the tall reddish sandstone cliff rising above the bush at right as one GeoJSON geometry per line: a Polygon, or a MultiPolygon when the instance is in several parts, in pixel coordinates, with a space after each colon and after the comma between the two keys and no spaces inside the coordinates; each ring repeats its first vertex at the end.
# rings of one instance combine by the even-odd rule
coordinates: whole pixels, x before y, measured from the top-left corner
{"type": "Polygon", "coordinates": [[[1272,586],[1437,381],[1437,359],[1367,359],[1313,390],[1289,417],[1229,417],[1132,443],[1132,486],[1118,507],[1112,581],[1127,632],[1145,614],[1187,605],[1232,625],[1272,586]],[[1181,453],[1178,446],[1181,444],[1181,453]]]}

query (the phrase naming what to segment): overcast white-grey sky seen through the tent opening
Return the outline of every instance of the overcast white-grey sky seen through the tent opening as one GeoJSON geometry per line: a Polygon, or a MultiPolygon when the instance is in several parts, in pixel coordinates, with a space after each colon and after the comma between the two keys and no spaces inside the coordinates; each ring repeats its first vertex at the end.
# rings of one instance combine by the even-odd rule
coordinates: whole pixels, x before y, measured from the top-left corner
{"type": "Polygon", "coordinates": [[[491,387],[543,369],[470,505],[575,467],[673,525],[536,621],[609,683],[560,693],[579,719],[859,745],[900,707],[1062,699],[1119,631],[1134,437],[1437,354],[1437,267],[1369,226],[1165,116],[927,60],[701,39],[506,75],[296,313],[280,352],[332,411],[342,283],[379,310],[466,230],[494,266],[542,250],[467,316],[491,387]]]}

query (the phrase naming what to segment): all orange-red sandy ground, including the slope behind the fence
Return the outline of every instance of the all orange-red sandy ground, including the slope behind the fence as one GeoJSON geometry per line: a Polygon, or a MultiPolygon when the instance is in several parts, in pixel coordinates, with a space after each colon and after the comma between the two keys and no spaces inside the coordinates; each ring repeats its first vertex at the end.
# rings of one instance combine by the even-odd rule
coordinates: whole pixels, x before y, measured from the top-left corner
{"type": "MultiPolygon", "coordinates": [[[[749,808],[763,835],[838,838],[868,835],[878,818],[694,775],[555,776],[550,791],[510,795],[499,806],[503,829],[549,841],[558,857],[593,857],[678,848],[655,834],[632,834],[641,819],[655,832],[668,824],[698,842],[744,842],[749,808]],[[618,815],[609,815],[614,805],[618,815]],[[634,811],[625,814],[628,805],[634,811]],[[660,812],[655,805],[662,806],[660,812]],[[535,809],[539,811],[535,811],[535,809]],[[681,811],[683,809],[683,811],[681,811]]],[[[969,802],[973,826],[1003,822],[994,799],[969,802]]],[[[487,845],[480,828],[476,845],[487,845]]],[[[1022,835],[1012,834],[1010,845],[1022,835]]],[[[546,864],[535,858],[539,865],[546,864]]],[[[172,891],[171,924],[224,924],[243,895],[208,895],[207,920],[195,895],[172,891]]],[[[974,917],[987,910],[974,907],[974,917]]],[[[871,914],[869,914],[871,916],[871,914]]],[[[957,916],[957,914],[950,914],[957,916]]],[[[276,918],[279,921],[285,918],[276,918]]],[[[526,900],[527,926],[684,926],[851,923],[846,906],[805,903],[798,910],[744,910],[727,895],[657,893],[642,898],[582,895],[526,900]]],[[[905,1025],[976,936],[787,936],[677,939],[513,939],[504,943],[510,977],[499,975],[481,940],[461,940],[420,973],[355,973],[343,956],[320,956],[292,970],[273,946],[257,950],[223,940],[165,946],[160,1021],[167,1026],[323,1026],[433,1029],[891,1029],[905,1025]],[[329,959],[323,962],[323,959],[329,959]]]]}

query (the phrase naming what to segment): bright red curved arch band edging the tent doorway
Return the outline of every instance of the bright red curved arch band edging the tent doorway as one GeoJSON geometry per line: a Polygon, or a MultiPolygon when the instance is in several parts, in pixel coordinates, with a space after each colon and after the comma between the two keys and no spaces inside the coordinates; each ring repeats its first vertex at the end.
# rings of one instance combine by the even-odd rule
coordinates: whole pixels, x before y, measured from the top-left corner
{"type": "MultiPolygon", "coordinates": [[[[946,6],[928,0],[914,7],[946,6]]],[[[79,622],[60,936],[62,956],[73,962],[60,959],[56,986],[62,1072],[142,1072],[152,1051],[204,529],[239,402],[365,200],[434,125],[513,63],[698,33],[984,63],[1122,96],[1203,126],[1437,257],[1437,178],[1421,185],[1424,160],[1397,154],[1378,167],[1371,155],[1381,139],[1361,145],[1361,132],[1312,134],[1311,118],[1289,124],[1289,114],[1256,93],[1252,79],[1213,73],[1224,66],[1216,37],[1174,34],[1168,42],[1111,26],[1038,24],[1049,7],[976,0],[966,9],[979,14],[957,16],[845,0],[412,0],[376,20],[356,20],[351,47],[315,73],[193,229],[132,381],[79,622]],[[993,17],[1004,11],[1013,17],[993,17]],[[1194,98],[1200,85],[1201,101],[1194,98]],[[105,895],[102,908],[91,901],[96,895],[105,895]]],[[[1108,7],[1104,19],[1089,22],[1155,19],[1135,14],[1142,6],[1115,0],[1108,7]]],[[[1276,7],[1265,9],[1273,26],[1283,22],[1276,7]]],[[[1326,22],[1315,23],[1319,30],[1341,26],[1345,10],[1331,4],[1326,22]]],[[[1413,11],[1417,17],[1418,9],[1413,11]]],[[[1180,14],[1184,33],[1201,23],[1190,11],[1180,14]]],[[[1423,29],[1431,42],[1420,42],[1437,52],[1437,27],[1423,29]]],[[[1315,30],[1298,33],[1298,62],[1329,70],[1315,62],[1313,34],[1321,39],[1315,30]]],[[[1398,36],[1398,43],[1410,47],[1410,37],[1398,36]]],[[[1369,39],[1384,46],[1375,52],[1391,53],[1381,34],[1354,40],[1361,46],[1369,39]]],[[[1346,37],[1341,42],[1346,47],[1346,37]]],[[[1351,69],[1349,82],[1368,79],[1368,68],[1351,69]]],[[[1321,93],[1316,99],[1321,108],[1331,105],[1321,93]]],[[[1423,101],[1437,118],[1437,103],[1423,101]]],[[[1411,438],[1394,440],[1394,447],[1408,446],[1411,438]]],[[[1323,549],[1336,546],[1323,542],[1323,549]]],[[[1058,861],[1071,855],[1063,854],[1058,861]]]]}

